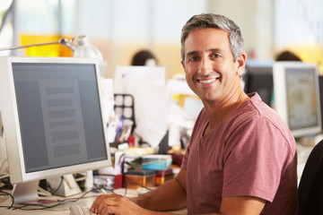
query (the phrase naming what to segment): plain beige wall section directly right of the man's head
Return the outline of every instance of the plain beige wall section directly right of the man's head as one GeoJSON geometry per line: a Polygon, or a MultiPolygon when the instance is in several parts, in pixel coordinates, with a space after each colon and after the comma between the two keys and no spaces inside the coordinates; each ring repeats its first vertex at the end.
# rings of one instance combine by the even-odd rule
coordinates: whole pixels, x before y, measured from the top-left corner
{"type": "Polygon", "coordinates": [[[226,15],[240,26],[249,58],[273,57],[275,1],[210,0],[209,4],[211,12],[226,15]]]}

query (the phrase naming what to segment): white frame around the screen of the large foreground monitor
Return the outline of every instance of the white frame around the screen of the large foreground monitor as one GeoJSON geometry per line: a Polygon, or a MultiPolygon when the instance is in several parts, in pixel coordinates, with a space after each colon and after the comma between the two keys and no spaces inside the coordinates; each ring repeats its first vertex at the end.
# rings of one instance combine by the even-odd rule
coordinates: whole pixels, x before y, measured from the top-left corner
{"type": "Polygon", "coordinates": [[[18,108],[13,82],[13,63],[39,63],[39,64],[93,64],[96,70],[96,80],[98,84],[102,126],[107,125],[104,122],[104,109],[100,93],[100,62],[94,58],[76,58],[76,57],[33,57],[33,56],[1,56],[0,66],[0,110],[3,116],[4,141],[7,150],[7,159],[9,164],[10,180],[12,184],[24,183],[33,180],[40,180],[55,176],[64,176],[78,172],[84,172],[92,169],[107,168],[111,166],[111,157],[109,142],[105,127],[103,127],[104,139],[106,142],[107,159],[100,161],[91,161],[78,165],[71,165],[62,168],[52,168],[26,173],[24,165],[24,155],[22,153],[22,137],[20,133],[20,123],[18,108]],[[0,102],[2,103],[2,102],[0,102]]]}

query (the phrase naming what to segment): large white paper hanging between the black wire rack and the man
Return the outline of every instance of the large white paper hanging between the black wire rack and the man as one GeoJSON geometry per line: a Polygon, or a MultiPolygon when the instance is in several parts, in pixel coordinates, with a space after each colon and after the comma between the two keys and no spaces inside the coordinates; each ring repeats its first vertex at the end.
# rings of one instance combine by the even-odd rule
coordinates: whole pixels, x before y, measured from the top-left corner
{"type": "Polygon", "coordinates": [[[169,94],[163,66],[118,66],[115,93],[131,94],[135,99],[135,133],[152,147],[166,133],[169,94]]]}

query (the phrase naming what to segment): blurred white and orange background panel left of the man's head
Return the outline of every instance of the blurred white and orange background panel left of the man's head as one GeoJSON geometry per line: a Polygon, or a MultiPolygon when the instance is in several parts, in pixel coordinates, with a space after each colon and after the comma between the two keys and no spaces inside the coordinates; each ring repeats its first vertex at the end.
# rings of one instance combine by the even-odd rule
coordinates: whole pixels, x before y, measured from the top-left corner
{"type": "Polygon", "coordinates": [[[107,77],[115,66],[130,64],[139,49],[152,50],[167,66],[167,78],[182,73],[180,30],[195,13],[205,13],[205,0],[97,0],[77,1],[76,34],[86,34],[109,63],[107,77]],[[95,11],[95,14],[93,13],[95,11]]]}

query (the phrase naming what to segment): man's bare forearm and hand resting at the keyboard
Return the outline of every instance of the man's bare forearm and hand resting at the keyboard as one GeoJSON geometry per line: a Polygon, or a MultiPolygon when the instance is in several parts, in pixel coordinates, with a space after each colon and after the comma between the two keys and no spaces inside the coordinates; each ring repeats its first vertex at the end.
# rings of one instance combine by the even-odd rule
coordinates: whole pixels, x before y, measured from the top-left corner
{"type": "Polygon", "coordinates": [[[186,171],[155,190],[136,198],[119,194],[102,194],[92,203],[91,211],[97,214],[161,215],[154,211],[175,211],[186,206],[186,171]]]}

